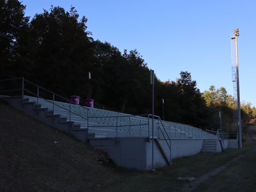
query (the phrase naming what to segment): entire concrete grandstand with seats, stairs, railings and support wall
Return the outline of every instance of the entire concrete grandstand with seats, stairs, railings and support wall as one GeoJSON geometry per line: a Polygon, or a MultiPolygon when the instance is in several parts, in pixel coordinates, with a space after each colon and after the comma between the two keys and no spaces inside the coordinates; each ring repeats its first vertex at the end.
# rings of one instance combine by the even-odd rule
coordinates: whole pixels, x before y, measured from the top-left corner
{"type": "Polygon", "coordinates": [[[162,121],[151,114],[129,115],[84,107],[23,78],[0,83],[20,80],[20,88],[1,88],[0,92],[7,96],[0,99],[35,119],[106,150],[118,166],[149,170],[167,166],[177,157],[237,148],[237,134],[162,121]]]}

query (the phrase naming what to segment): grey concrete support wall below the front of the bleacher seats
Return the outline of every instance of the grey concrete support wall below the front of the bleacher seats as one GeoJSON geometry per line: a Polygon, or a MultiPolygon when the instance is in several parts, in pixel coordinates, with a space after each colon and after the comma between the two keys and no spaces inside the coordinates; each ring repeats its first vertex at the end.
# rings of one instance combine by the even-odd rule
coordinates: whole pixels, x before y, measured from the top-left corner
{"type": "MultiPolygon", "coordinates": [[[[160,143],[170,159],[171,151],[166,141],[160,140],[160,143]]],[[[202,144],[203,140],[173,139],[171,140],[172,159],[198,154],[202,144]]],[[[90,145],[108,151],[109,157],[118,166],[150,170],[168,165],[156,142],[152,142],[152,139],[148,142],[147,137],[120,137],[118,140],[98,138],[90,140],[90,145]],[[153,167],[152,164],[154,164],[153,167]]]]}

